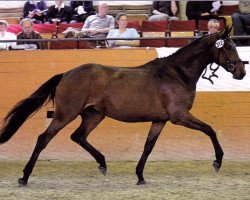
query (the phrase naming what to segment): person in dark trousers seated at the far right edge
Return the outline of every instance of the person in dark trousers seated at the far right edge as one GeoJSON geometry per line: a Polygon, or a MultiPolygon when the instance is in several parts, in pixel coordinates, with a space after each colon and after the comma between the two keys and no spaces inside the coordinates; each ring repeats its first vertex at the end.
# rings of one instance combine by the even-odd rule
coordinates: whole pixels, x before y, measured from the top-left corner
{"type": "Polygon", "coordinates": [[[232,15],[234,34],[245,35],[245,26],[250,26],[250,1],[239,1],[239,13],[232,15]]]}

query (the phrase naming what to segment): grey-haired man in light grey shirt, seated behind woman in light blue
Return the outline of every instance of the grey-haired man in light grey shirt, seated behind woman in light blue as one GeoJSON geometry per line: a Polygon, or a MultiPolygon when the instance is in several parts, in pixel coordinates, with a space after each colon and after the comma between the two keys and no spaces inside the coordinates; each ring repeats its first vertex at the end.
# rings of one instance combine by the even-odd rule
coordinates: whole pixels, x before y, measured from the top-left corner
{"type": "Polygon", "coordinates": [[[115,19],[111,15],[107,15],[108,10],[108,4],[100,2],[98,5],[98,13],[86,19],[82,27],[82,32],[85,33],[87,37],[103,38],[107,36],[111,29],[114,29],[115,19]]]}

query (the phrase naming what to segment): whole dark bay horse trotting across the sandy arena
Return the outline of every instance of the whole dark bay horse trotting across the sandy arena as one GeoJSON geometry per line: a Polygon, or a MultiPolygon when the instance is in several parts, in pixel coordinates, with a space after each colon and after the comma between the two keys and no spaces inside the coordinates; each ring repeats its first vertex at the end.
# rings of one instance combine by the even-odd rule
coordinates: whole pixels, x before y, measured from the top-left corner
{"type": "Polygon", "coordinates": [[[199,38],[171,56],[157,58],[142,66],[118,68],[85,64],[49,79],[7,114],[0,129],[0,143],[4,143],[45,102],[55,101],[54,118],[38,137],[19,184],[27,184],[41,151],[78,115],[82,122],[71,139],[95,158],[104,174],[107,170],[105,157],[88,143],[87,137],[105,116],[123,122],[152,122],[136,167],[137,184],[145,183],[145,163],[167,121],[208,135],[215,150],[213,167],[219,171],[224,153],[216,133],[192,116],[189,110],[194,103],[196,83],[209,63],[222,66],[232,73],[234,79],[245,76],[245,66],[229,38],[230,30],[226,28],[220,33],[199,38]]]}

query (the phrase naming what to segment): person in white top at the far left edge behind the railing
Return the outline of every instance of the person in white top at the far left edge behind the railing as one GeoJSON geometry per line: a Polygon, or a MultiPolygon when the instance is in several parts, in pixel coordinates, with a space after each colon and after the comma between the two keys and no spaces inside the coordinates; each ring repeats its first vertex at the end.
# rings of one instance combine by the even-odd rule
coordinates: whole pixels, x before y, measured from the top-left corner
{"type": "MultiPolygon", "coordinates": [[[[0,20],[0,40],[16,40],[14,33],[7,32],[8,23],[5,20],[0,20]]],[[[8,50],[9,47],[16,46],[16,42],[0,43],[0,50],[8,50]]]]}

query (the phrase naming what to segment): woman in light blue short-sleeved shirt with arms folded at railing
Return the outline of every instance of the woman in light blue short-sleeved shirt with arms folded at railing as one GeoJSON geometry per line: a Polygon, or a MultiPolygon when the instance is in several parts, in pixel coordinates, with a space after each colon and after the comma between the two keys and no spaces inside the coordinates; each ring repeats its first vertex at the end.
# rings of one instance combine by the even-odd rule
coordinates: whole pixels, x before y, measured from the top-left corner
{"type": "MultiPolygon", "coordinates": [[[[125,13],[116,16],[118,29],[110,30],[107,38],[136,38],[140,37],[134,28],[127,28],[128,17],[125,13]]],[[[107,40],[110,47],[138,47],[140,40],[107,40]]]]}

